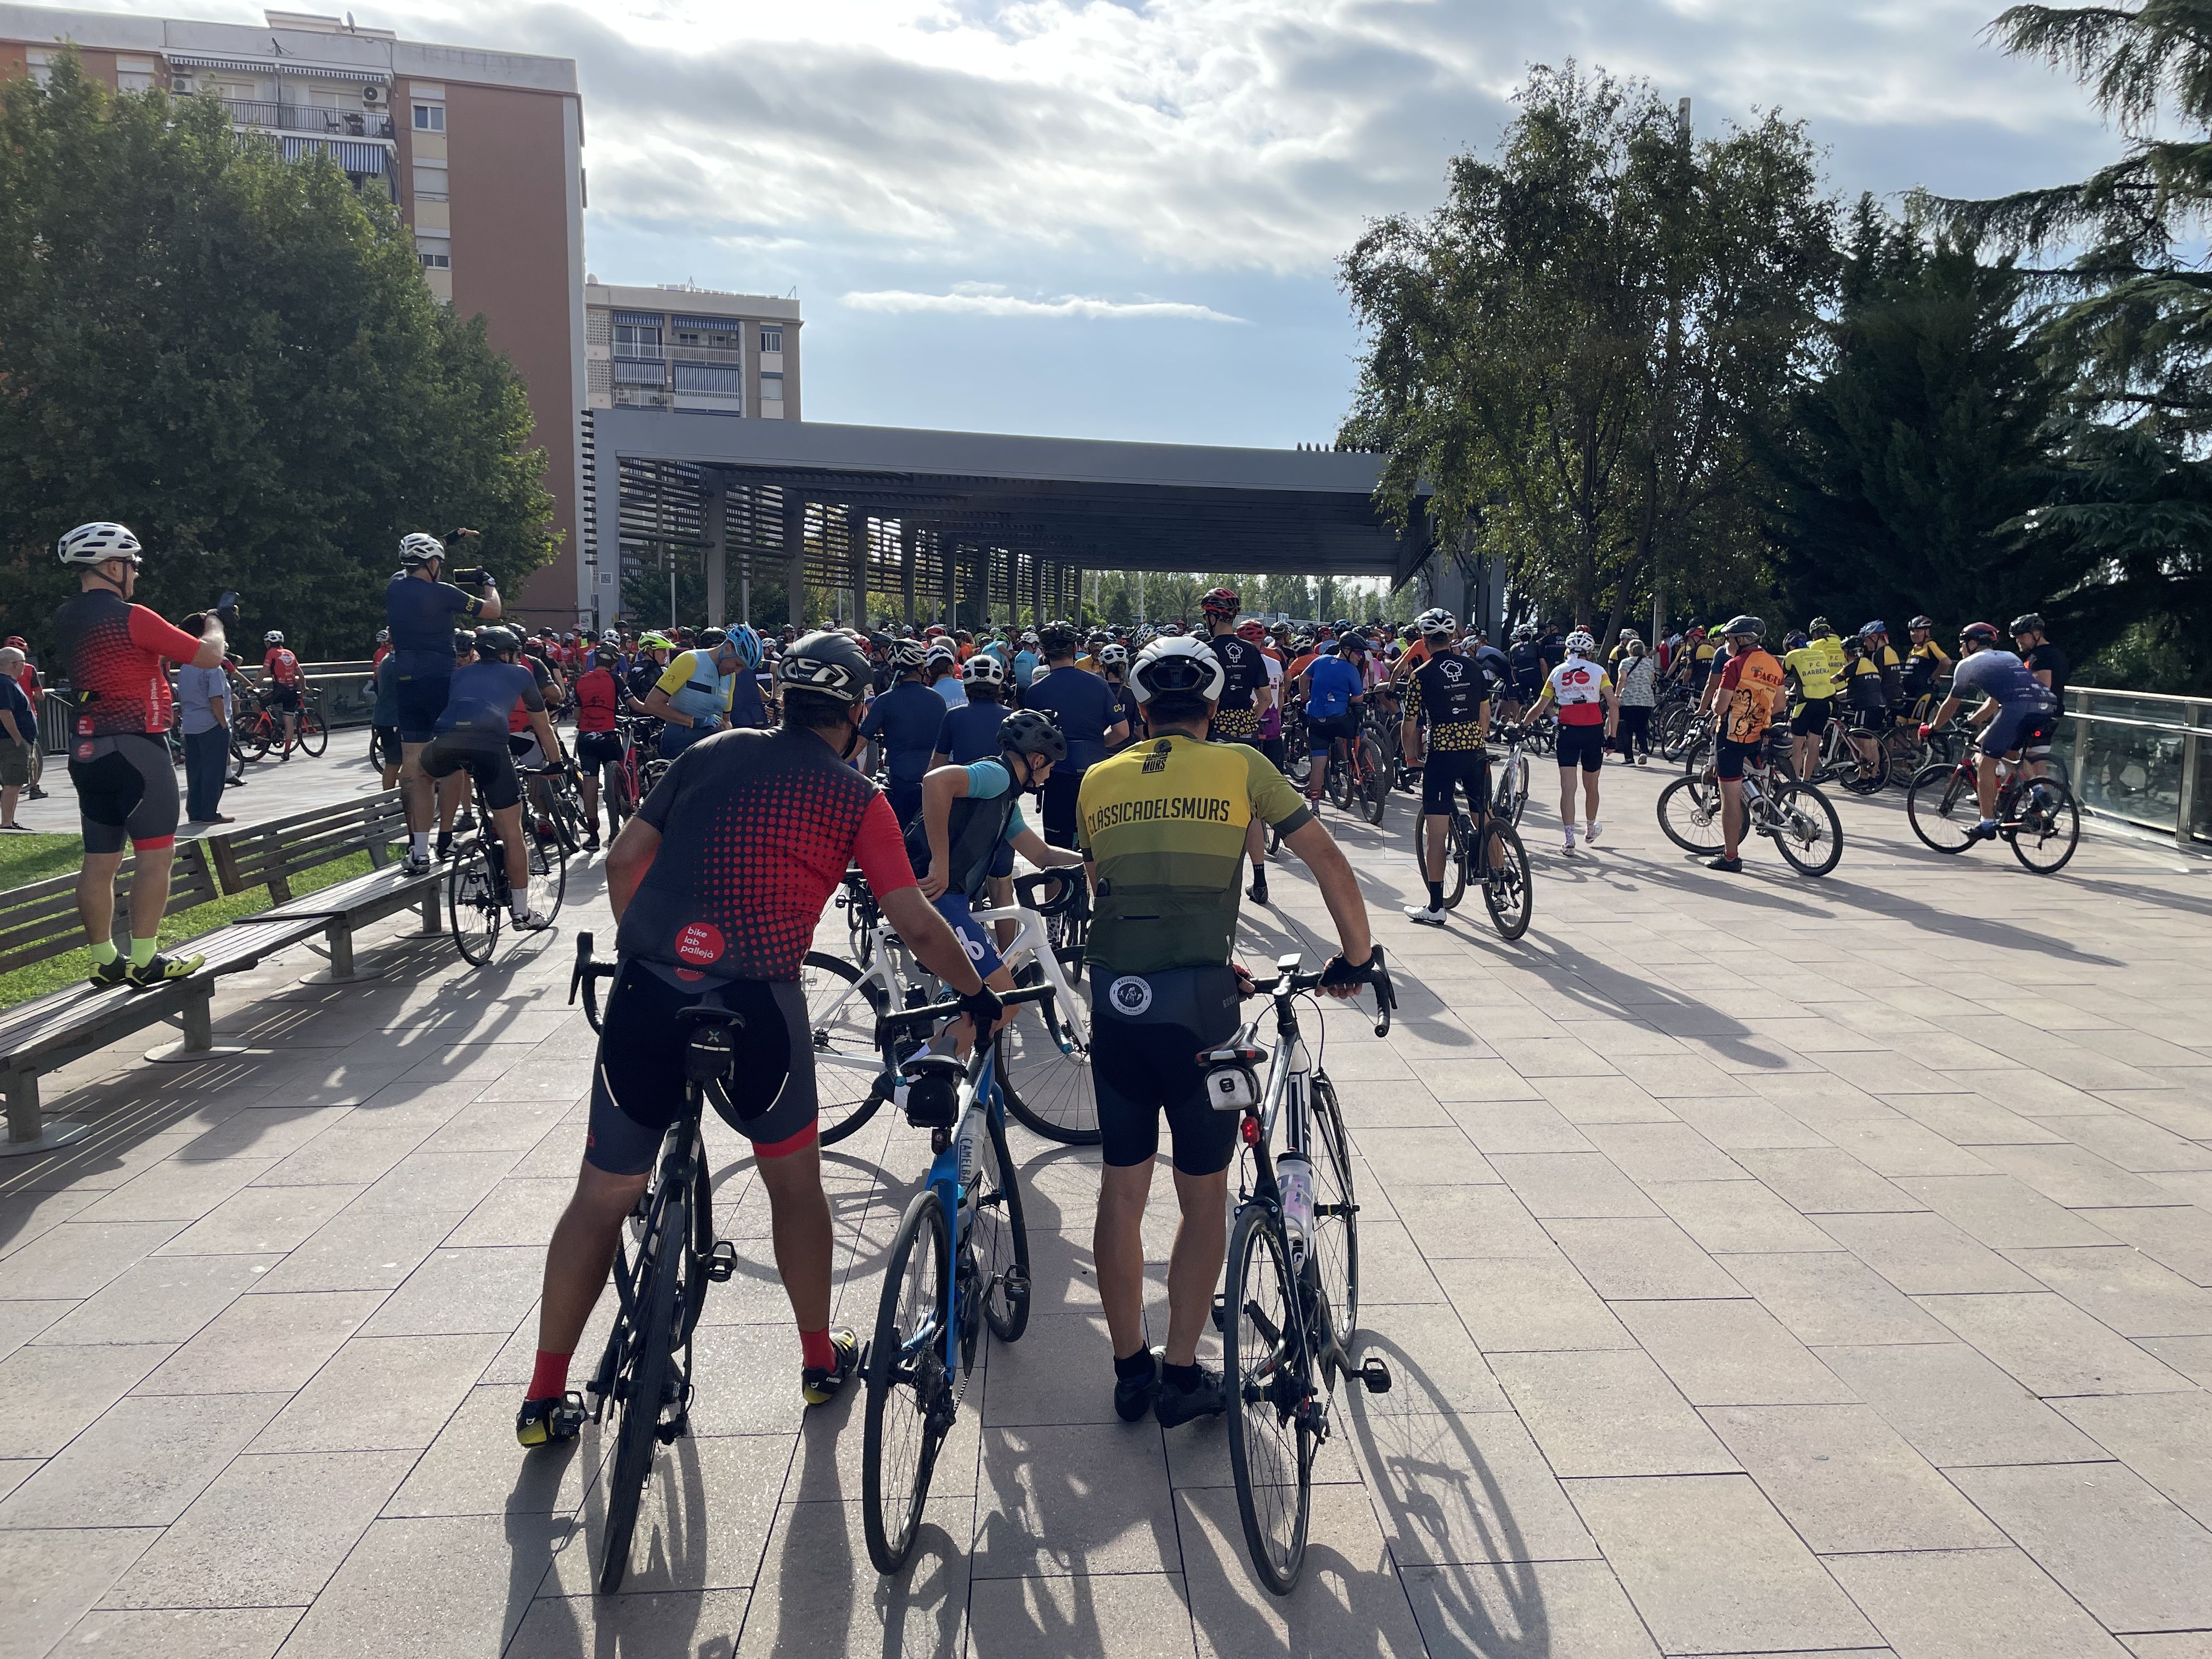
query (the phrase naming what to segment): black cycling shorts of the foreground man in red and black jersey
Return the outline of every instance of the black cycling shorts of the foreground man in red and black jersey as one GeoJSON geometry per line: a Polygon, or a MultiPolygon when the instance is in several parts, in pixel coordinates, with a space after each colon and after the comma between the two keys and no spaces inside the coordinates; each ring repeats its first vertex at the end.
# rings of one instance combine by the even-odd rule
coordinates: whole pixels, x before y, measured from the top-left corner
{"type": "Polygon", "coordinates": [[[626,958],[606,998],[599,1057],[591,1068],[584,1161],[608,1175],[644,1175],[668,1126],[684,1115],[684,1051],[692,1026],[677,1020],[701,1002],[745,1015],[732,1033],[737,1082],[714,1110],[759,1157],[803,1152],[818,1135],[807,1000],[796,980],[679,980],[681,969],[626,958]]]}

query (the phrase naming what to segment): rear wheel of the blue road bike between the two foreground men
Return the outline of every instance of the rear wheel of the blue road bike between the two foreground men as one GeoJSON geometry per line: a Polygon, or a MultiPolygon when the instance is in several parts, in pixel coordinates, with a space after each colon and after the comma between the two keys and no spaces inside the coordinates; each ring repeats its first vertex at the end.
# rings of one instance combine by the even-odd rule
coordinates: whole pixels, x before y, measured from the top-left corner
{"type": "Polygon", "coordinates": [[[914,1553],[929,1475],[953,1427],[953,1378],[945,1365],[951,1323],[951,1250],[945,1206],[920,1190],[891,1241],[876,1336],[867,1349],[867,1427],[860,1438],[860,1517],[878,1573],[914,1553]]]}

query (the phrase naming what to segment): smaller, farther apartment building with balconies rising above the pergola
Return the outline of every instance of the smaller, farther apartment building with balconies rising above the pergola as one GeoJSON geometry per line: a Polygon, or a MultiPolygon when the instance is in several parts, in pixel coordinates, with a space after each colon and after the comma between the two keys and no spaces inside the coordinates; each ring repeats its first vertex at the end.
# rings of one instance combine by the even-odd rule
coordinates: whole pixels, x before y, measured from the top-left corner
{"type": "Polygon", "coordinates": [[[593,409],[799,420],[799,301],[584,279],[593,409]]]}

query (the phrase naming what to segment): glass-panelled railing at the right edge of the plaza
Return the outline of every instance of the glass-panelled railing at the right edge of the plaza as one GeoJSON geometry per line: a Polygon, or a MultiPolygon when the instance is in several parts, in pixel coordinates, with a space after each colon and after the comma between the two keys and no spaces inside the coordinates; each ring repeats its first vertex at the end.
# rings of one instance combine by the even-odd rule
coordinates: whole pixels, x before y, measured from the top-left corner
{"type": "Polygon", "coordinates": [[[2106,818],[2212,843],[2212,699],[2070,686],[2053,759],[2106,818]]]}

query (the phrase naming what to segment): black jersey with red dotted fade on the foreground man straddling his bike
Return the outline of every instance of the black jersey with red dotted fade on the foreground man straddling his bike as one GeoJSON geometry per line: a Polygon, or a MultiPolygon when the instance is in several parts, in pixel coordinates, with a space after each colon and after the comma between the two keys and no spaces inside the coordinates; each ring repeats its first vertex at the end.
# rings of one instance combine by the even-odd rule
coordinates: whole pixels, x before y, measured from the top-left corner
{"type": "Polygon", "coordinates": [[[814,732],[703,737],[637,816],[661,845],[617,945],[679,975],[796,980],[849,865],[878,900],[914,885],[891,803],[814,732]]]}

